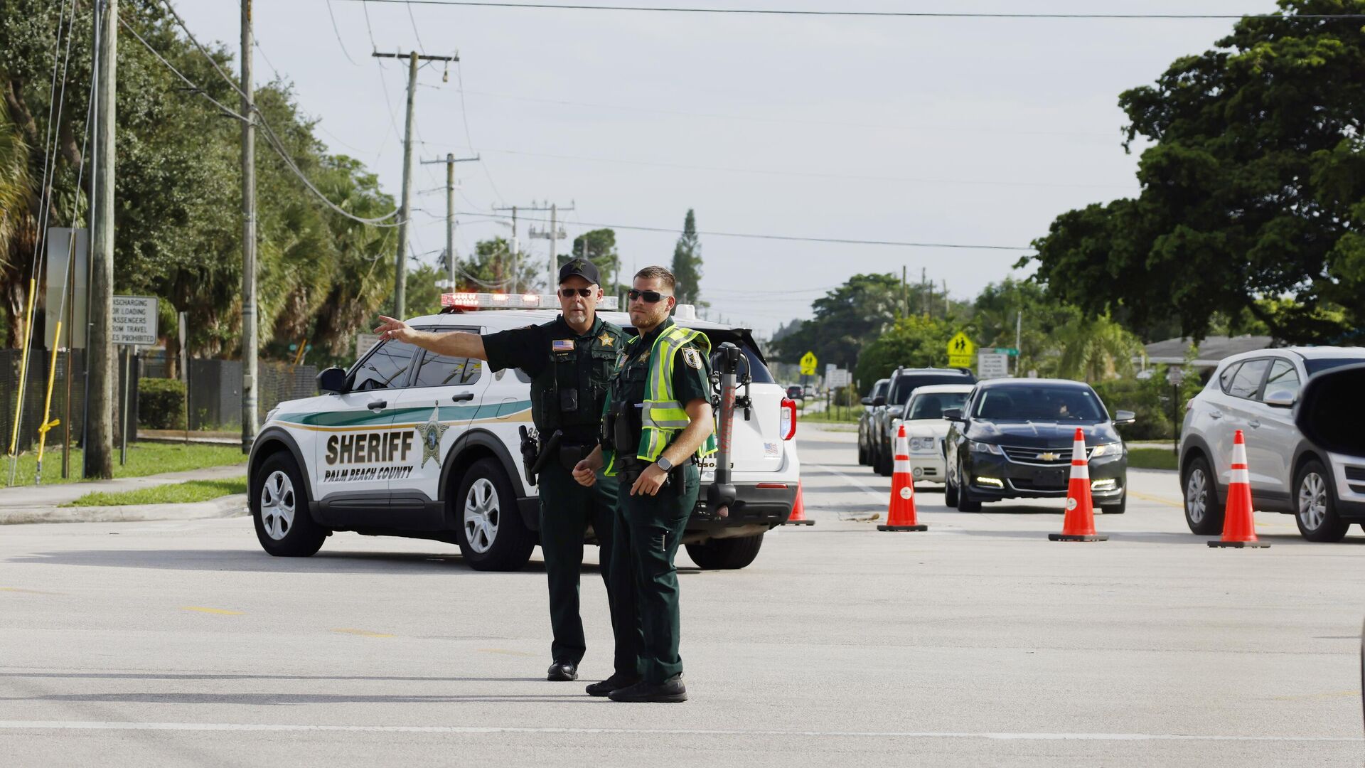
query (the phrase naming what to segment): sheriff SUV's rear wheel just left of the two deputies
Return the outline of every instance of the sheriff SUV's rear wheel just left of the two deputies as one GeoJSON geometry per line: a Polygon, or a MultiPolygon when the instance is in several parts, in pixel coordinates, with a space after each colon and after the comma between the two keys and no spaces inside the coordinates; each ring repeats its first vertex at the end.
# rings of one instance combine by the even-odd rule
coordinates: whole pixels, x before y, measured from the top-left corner
{"type": "Polygon", "coordinates": [[[464,562],[476,571],[516,571],[535,549],[535,536],[521,522],[516,493],[502,463],[474,462],[450,499],[456,538],[464,562]]]}

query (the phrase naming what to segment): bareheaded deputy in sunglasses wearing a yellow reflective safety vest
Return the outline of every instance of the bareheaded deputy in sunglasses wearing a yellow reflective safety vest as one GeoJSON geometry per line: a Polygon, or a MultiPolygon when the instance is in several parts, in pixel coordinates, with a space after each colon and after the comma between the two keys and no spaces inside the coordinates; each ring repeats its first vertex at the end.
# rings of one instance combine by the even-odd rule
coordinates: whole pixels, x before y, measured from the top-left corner
{"type": "Polygon", "coordinates": [[[715,452],[710,342],[674,325],[673,273],[646,266],[631,290],[637,338],[621,351],[607,389],[603,440],[579,462],[583,485],[620,476],[613,594],[635,592],[640,631],[636,675],[617,672],[588,686],[614,701],[687,701],[678,656],[678,579],[673,556],[696,507],[700,467],[715,452]]]}

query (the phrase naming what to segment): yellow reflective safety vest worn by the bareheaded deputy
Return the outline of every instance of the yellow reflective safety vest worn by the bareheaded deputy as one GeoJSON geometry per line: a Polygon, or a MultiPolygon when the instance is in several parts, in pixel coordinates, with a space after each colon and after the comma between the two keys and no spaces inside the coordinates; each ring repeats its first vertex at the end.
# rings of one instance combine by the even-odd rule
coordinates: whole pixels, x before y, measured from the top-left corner
{"type": "MultiPolygon", "coordinates": [[[[640,342],[639,336],[632,338],[621,348],[621,361],[633,348],[633,344],[640,342]]],[[[654,346],[650,347],[650,368],[644,374],[644,402],[640,407],[640,444],[636,448],[635,456],[643,462],[652,463],[659,458],[659,454],[669,447],[669,443],[678,436],[691,420],[684,410],[682,403],[677,402],[677,396],[673,394],[673,364],[677,358],[677,351],[685,344],[692,343],[700,348],[703,355],[710,357],[711,340],[706,338],[706,333],[695,331],[692,328],[682,328],[681,325],[669,325],[662,333],[654,339],[654,346]]],[[[620,368],[617,369],[620,373],[620,368]]],[[[614,388],[607,391],[607,403],[603,410],[603,417],[612,410],[612,394],[614,388]]],[[[620,447],[618,447],[620,448],[620,447]]],[[[603,470],[602,473],[607,477],[617,474],[616,467],[616,451],[603,447],[603,470]]],[[[698,458],[706,458],[715,452],[715,432],[702,441],[696,448],[698,458]]]]}

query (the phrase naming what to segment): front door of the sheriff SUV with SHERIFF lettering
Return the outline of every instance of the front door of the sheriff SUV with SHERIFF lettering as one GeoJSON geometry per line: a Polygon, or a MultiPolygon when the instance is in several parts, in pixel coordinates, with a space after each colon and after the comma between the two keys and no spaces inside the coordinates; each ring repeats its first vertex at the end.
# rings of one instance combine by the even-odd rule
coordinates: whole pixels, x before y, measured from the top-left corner
{"type": "Polygon", "coordinates": [[[384,342],[347,376],[344,395],[319,414],[313,471],[318,504],[337,527],[382,525],[389,506],[386,467],[401,436],[390,429],[397,396],[407,381],[416,347],[384,342]]]}

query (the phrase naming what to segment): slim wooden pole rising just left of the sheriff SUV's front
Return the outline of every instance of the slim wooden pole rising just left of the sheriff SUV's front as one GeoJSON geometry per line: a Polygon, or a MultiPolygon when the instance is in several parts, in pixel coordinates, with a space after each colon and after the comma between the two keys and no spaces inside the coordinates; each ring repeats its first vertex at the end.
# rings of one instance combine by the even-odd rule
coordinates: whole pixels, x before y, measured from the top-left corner
{"type": "Polygon", "coordinates": [[[251,0],[242,0],[242,452],[257,433],[255,85],[251,81],[251,0]]]}

